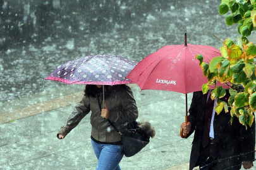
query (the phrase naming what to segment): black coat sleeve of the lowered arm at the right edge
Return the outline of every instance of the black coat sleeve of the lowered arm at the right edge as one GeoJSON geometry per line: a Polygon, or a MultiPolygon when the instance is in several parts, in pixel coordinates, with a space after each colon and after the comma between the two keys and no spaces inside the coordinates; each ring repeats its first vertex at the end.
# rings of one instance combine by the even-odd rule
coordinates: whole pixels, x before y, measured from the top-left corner
{"type": "MultiPolygon", "coordinates": [[[[254,114],[253,114],[254,116],[254,114]]],[[[252,127],[241,125],[241,160],[242,161],[255,161],[255,119],[253,120],[252,127]]]]}

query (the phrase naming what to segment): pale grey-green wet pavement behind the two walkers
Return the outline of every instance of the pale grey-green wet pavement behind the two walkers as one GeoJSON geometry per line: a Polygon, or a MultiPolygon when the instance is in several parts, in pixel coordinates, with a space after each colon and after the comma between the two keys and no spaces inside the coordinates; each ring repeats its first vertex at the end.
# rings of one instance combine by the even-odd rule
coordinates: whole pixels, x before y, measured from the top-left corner
{"type": "MultiPolygon", "coordinates": [[[[185,120],[185,95],[140,91],[137,85],[130,86],[137,101],[138,121],[152,123],[156,135],[137,155],[124,157],[121,168],[188,169],[193,135],[188,139],[179,136],[180,124],[185,120]]],[[[97,159],[90,144],[90,115],[65,139],[56,137],[82,96],[83,86],[67,85],[12,101],[16,104],[13,110],[9,110],[11,103],[1,106],[0,169],[95,169],[97,159]],[[29,101],[34,103],[24,105],[29,101]],[[8,115],[18,117],[11,120],[8,115]]],[[[192,94],[188,94],[188,105],[191,99],[192,94]]]]}

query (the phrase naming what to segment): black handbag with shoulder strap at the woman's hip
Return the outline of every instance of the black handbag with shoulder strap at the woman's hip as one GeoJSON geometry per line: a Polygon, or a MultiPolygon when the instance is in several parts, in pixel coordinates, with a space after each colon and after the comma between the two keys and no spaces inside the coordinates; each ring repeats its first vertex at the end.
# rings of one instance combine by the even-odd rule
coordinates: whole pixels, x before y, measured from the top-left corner
{"type": "MultiPolygon", "coordinates": [[[[98,104],[101,110],[101,103],[98,97],[98,104]]],[[[112,122],[108,119],[107,121],[112,125],[114,130],[121,135],[121,141],[123,144],[122,153],[125,154],[126,157],[131,157],[140,152],[147,144],[149,144],[150,136],[147,135],[143,130],[138,127],[138,122],[135,120],[133,122],[129,122],[126,130],[120,132],[118,128],[116,128],[112,122]]]]}

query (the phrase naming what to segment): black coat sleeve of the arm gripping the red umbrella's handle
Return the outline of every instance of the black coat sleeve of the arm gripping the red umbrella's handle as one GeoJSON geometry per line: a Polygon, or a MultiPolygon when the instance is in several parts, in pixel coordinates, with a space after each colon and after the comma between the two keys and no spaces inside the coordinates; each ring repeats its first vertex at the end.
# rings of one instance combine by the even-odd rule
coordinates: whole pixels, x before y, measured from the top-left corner
{"type": "Polygon", "coordinates": [[[188,112],[190,115],[188,115],[188,122],[191,123],[191,130],[186,135],[186,138],[188,138],[194,131],[195,131],[195,125],[196,125],[196,120],[197,120],[197,109],[198,109],[198,103],[197,103],[197,93],[193,93],[193,98],[192,98],[192,103],[190,105],[190,109],[188,112]]]}

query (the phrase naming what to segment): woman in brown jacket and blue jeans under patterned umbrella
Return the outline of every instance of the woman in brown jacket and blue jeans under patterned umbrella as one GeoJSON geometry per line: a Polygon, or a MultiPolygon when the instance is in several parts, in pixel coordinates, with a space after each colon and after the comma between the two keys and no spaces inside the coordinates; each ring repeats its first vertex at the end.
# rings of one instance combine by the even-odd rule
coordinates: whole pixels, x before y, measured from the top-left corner
{"type": "Polygon", "coordinates": [[[119,130],[125,130],[128,122],[138,118],[138,108],[131,89],[126,85],[104,86],[105,98],[103,103],[102,86],[87,85],[82,101],[75,107],[66,126],[62,127],[57,137],[64,137],[78,125],[82,118],[92,111],[90,123],[92,125],[91,141],[98,159],[96,169],[121,169],[119,162],[123,158],[121,153],[121,136],[107,121],[119,130]],[[100,110],[100,106],[102,111],[100,110]]]}

